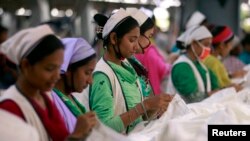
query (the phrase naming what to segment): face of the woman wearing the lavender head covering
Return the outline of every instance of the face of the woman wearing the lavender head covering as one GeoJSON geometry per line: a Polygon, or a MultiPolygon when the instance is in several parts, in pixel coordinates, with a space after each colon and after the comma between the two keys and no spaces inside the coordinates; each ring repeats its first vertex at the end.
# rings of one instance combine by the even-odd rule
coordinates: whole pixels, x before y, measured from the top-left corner
{"type": "MultiPolygon", "coordinates": [[[[73,83],[76,92],[82,92],[89,84],[92,84],[92,73],[95,69],[96,59],[90,60],[87,64],[78,67],[73,73],[73,83]]],[[[71,79],[68,79],[71,80],[71,79]]]]}

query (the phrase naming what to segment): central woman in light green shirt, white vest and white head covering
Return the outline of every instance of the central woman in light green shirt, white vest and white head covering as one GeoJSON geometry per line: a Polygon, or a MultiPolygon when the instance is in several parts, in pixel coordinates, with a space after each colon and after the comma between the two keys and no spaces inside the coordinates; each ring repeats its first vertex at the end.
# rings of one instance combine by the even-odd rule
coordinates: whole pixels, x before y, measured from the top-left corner
{"type": "Polygon", "coordinates": [[[128,133],[147,112],[162,114],[171,101],[168,95],[144,100],[138,75],[126,58],[138,48],[140,29],[124,9],[107,19],[102,39],[105,49],[93,74],[89,107],[99,119],[117,132],[128,133]]]}

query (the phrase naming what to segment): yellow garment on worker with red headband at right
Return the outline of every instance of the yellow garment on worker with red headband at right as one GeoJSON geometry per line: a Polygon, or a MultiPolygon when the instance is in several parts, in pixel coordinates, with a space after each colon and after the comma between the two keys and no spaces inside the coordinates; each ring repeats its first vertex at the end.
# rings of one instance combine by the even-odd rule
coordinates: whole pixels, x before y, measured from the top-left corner
{"type": "Polygon", "coordinates": [[[203,60],[203,63],[216,75],[220,88],[231,84],[226,68],[218,58],[213,55],[209,55],[203,60]]]}

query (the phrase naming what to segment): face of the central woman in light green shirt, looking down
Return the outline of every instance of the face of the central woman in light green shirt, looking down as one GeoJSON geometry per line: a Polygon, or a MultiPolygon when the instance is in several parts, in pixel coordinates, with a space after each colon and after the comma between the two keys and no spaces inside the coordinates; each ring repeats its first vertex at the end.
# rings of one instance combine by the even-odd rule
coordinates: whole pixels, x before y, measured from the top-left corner
{"type": "Polygon", "coordinates": [[[136,27],[120,39],[118,46],[124,58],[129,58],[136,52],[139,35],[140,29],[139,27],[136,27]]]}

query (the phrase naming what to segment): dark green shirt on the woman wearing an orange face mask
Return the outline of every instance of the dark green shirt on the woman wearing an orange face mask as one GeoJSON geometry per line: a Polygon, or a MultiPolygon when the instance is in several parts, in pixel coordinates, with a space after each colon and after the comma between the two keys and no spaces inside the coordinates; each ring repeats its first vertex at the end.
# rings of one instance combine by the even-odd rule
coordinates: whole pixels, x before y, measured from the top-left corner
{"type": "MultiPolygon", "coordinates": [[[[203,83],[206,86],[206,70],[198,61],[193,62],[200,73],[203,83]]],[[[209,70],[209,69],[208,69],[209,70]]],[[[212,90],[218,88],[216,76],[209,70],[212,90]]],[[[207,93],[198,91],[198,82],[191,66],[185,62],[173,66],[171,72],[172,82],[176,90],[182,95],[187,103],[198,102],[206,98],[207,93]]]]}

